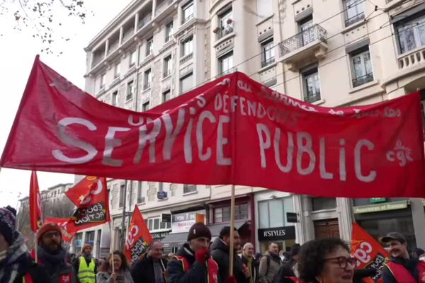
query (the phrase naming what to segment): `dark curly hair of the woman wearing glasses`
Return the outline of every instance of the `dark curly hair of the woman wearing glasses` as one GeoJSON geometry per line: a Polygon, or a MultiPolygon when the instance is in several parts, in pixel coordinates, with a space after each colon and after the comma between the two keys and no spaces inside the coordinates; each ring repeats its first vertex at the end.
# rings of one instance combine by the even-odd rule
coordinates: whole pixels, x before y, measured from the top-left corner
{"type": "Polygon", "coordinates": [[[320,275],[324,267],[324,259],[329,253],[333,253],[339,247],[350,253],[348,245],[340,238],[325,238],[322,240],[309,241],[301,246],[300,260],[297,268],[300,278],[305,282],[317,283],[316,276],[320,275]]]}

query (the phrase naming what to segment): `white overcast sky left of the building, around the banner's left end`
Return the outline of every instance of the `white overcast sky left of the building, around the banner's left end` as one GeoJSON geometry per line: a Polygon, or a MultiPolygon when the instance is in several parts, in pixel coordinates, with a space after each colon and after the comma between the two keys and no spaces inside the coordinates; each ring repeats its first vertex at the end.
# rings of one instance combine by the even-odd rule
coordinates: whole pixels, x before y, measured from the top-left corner
{"type": "MultiPolygon", "coordinates": [[[[7,2],[10,3],[10,2],[7,2]]],[[[8,133],[16,115],[23,90],[32,67],[34,57],[55,69],[59,74],[72,81],[79,88],[84,88],[84,72],[86,71],[86,53],[83,48],[89,41],[109,23],[130,0],[86,0],[84,4],[89,11],[86,24],[82,25],[66,16],[62,29],[57,30],[69,37],[67,42],[54,43],[51,48],[56,54],[42,54],[40,42],[33,39],[32,30],[17,32],[13,30],[10,18],[0,17],[0,151],[3,152],[8,133]],[[57,55],[59,52],[62,55],[57,55]]],[[[13,8],[12,8],[13,10],[13,8]]],[[[13,21],[13,20],[12,20],[13,21]]],[[[58,183],[73,183],[74,175],[59,173],[38,173],[40,190],[45,190],[58,183]]],[[[10,204],[16,207],[18,198],[28,195],[30,171],[1,168],[0,171],[0,207],[10,204]]]]}

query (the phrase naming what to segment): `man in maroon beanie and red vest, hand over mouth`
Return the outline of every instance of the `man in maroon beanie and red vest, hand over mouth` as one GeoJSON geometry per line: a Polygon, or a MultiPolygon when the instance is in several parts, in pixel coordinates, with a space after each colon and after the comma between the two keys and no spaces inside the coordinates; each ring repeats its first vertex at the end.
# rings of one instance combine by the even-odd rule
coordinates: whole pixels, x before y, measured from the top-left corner
{"type": "Polygon", "coordinates": [[[210,258],[211,232],[205,224],[191,226],[184,243],[169,262],[168,283],[218,283],[218,265],[210,258]]]}

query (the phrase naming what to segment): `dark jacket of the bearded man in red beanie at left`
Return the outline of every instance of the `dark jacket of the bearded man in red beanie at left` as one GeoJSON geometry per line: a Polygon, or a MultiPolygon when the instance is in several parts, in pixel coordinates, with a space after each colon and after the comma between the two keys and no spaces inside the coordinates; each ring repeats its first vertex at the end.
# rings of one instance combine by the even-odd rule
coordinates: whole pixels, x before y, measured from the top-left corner
{"type": "Polygon", "coordinates": [[[67,252],[60,249],[56,255],[53,255],[43,246],[38,246],[38,263],[47,272],[52,283],[77,283],[77,276],[74,267],[65,261],[67,252]]]}

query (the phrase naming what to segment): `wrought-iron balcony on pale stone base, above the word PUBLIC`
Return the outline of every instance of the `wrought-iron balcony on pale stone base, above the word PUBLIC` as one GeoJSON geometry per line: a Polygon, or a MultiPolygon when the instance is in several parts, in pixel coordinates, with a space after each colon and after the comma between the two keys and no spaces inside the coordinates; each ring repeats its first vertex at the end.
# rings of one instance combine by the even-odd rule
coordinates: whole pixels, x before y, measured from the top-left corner
{"type": "Polygon", "coordinates": [[[279,61],[287,64],[291,71],[298,71],[305,64],[324,59],[328,49],[326,37],[324,28],[312,25],[279,43],[279,61]]]}

